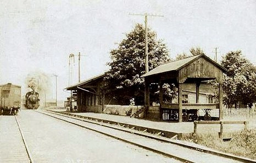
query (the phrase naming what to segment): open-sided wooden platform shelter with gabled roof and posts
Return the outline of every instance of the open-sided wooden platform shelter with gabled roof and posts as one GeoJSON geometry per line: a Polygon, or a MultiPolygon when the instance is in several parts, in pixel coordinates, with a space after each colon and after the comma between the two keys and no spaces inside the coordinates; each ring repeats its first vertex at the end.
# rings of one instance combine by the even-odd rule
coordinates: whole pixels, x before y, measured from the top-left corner
{"type": "MultiPolygon", "coordinates": [[[[210,108],[220,109],[220,119],[222,119],[222,83],[223,73],[226,69],[213,61],[206,55],[196,55],[187,57],[182,60],[172,61],[160,65],[148,73],[142,75],[145,79],[145,105],[149,106],[149,84],[158,83],[160,86],[159,101],[160,110],[164,108],[179,109],[178,119],[182,121],[182,84],[184,83],[196,83],[196,103],[190,103],[190,108],[200,109],[209,107],[209,104],[199,104],[199,86],[201,81],[216,79],[219,83],[219,104],[215,104],[210,108]],[[163,103],[163,84],[174,83],[178,88],[178,103],[166,105],[163,103]]],[[[160,112],[161,114],[161,112],[160,112]]],[[[162,115],[160,115],[162,117],[162,115]]]]}

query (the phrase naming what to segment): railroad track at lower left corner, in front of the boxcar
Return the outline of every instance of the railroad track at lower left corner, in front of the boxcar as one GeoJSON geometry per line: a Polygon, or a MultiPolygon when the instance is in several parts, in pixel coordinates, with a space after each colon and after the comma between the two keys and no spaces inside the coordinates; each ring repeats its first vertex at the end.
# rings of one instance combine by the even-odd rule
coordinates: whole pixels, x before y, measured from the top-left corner
{"type": "Polygon", "coordinates": [[[0,130],[0,162],[33,162],[16,116],[2,116],[0,130]]]}

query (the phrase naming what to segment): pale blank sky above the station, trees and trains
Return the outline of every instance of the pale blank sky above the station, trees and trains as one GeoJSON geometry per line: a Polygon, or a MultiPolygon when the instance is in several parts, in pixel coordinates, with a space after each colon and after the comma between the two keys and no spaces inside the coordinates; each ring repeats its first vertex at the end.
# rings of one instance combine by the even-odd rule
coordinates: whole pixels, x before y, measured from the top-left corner
{"type": "Polygon", "coordinates": [[[118,47],[137,23],[157,32],[170,57],[199,46],[218,59],[229,51],[242,50],[256,65],[256,1],[88,1],[1,0],[0,84],[13,83],[27,89],[27,76],[46,74],[48,98],[68,97],[63,89],[108,70],[110,51],[118,47]],[[69,66],[69,55],[74,62],[69,66]],[[72,71],[71,71],[72,70],[72,71]],[[70,72],[72,72],[70,74],[70,72]]]}

